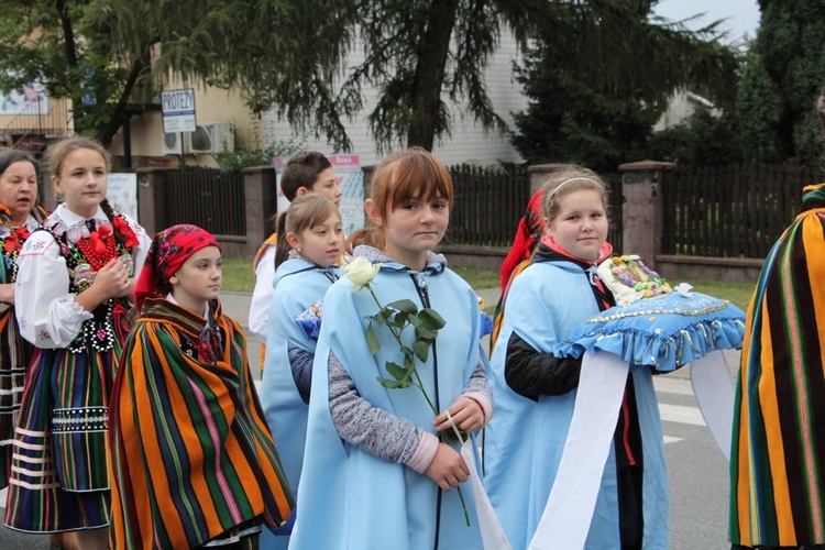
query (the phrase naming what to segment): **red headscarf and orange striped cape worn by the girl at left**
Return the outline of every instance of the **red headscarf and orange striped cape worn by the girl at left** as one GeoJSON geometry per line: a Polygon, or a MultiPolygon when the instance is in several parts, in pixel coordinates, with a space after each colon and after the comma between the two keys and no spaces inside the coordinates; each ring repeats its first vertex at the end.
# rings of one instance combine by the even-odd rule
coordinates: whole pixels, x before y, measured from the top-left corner
{"type": "Polygon", "coordinates": [[[112,548],[256,548],[292,512],[240,326],[217,300],[196,312],[157,294],[206,246],[220,248],[195,226],[158,233],[135,287],[109,428],[112,548]]]}

